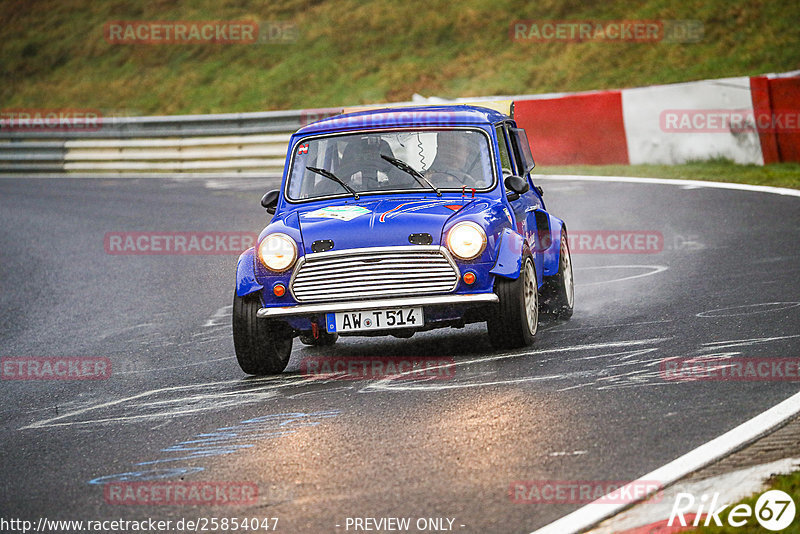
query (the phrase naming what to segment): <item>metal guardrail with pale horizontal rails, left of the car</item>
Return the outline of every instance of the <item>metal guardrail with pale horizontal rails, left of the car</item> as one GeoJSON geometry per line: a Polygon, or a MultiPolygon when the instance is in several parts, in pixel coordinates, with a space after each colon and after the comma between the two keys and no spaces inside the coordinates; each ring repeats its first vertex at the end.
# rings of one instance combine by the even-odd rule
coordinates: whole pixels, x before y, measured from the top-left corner
{"type": "MultiPolygon", "coordinates": [[[[335,110],[324,110],[327,115],[335,110]]],[[[0,176],[280,177],[290,135],[316,110],[102,118],[0,127],[0,176]]]]}

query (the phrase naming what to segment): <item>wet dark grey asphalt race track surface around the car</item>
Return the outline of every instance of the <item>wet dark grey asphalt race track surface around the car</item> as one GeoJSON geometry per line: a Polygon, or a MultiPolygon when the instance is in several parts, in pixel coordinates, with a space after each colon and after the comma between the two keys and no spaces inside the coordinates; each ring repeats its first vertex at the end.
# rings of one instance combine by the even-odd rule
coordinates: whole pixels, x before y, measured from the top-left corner
{"type": "Polygon", "coordinates": [[[450,518],[458,532],[530,532],[580,505],[515,504],[513,481],[631,480],[798,391],[667,382],[659,362],[798,356],[799,199],[578,181],[542,181],[573,233],[660,232],[663,250],[574,253],[575,315],[543,324],[534,347],[492,351],[483,325],[327,349],[295,340],[288,372],[247,378],[230,333],[235,255],[108,255],[103,238],[258,232],[270,185],[0,181],[0,355],[112,362],[107,380],[0,382],[4,518],[277,517],[286,533],[346,532],[348,517],[450,518]],[[452,380],[309,380],[297,369],[315,355],[457,367],[452,380]],[[180,445],[215,431],[228,435],[180,445]],[[123,506],[90,484],[153,473],[253,483],[259,497],[123,506]]]}

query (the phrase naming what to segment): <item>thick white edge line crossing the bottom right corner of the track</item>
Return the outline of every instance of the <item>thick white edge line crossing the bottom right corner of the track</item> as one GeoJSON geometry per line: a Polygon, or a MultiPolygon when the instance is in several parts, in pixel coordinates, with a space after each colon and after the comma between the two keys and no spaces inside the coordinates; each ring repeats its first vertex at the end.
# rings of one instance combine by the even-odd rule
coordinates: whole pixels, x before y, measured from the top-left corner
{"type": "MultiPolygon", "coordinates": [[[[697,471],[701,467],[705,467],[715,460],[755,441],[798,412],[800,412],[800,393],[795,393],[783,402],[745,421],[736,428],[659,467],[655,471],[643,475],[639,480],[631,482],[628,484],[630,486],[629,490],[631,490],[630,494],[633,495],[633,489],[637,487],[637,484],[641,485],[642,481],[645,480],[657,480],[662,487],[666,487],[689,473],[697,471]]],[[[620,491],[623,492],[623,495],[626,494],[624,493],[625,490],[620,491]]],[[[639,499],[639,501],[642,500],[644,499],[639,499]]],[[[535,534],[582,532],[600,521],[616,515],[631,504],[633,503],[612,505],[594,501],[536,530],[535,534]]]]}

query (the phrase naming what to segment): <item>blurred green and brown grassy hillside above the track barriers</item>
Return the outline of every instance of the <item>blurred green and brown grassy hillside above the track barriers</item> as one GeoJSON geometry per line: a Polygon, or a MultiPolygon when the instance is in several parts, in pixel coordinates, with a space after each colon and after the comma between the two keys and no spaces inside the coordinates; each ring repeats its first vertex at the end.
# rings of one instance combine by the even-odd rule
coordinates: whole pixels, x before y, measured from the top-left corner
{"type": "Polygon", "coordinates": [[[796,0],[3,0],[0,108],[182,114],[641,86],[800,68],[796,0]],[[696,43],[515,42],[517,19],[700,21],[696,43]],[[292,43],[112,44],[109,21],[291,24],[292,43]]]}

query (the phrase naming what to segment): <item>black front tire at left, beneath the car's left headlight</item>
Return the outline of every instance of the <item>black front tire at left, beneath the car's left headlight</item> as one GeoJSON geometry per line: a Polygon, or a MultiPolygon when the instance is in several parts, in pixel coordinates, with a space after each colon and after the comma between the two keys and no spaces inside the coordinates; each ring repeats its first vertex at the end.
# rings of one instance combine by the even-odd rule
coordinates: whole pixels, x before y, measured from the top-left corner
{"type": "Polygon", "coordinates": [[[236,359],[247,374],[279,374],[289,363],[293,332],[285,323],[256,317],[260,307],[258,294],[233,296],[236,359]]]}

